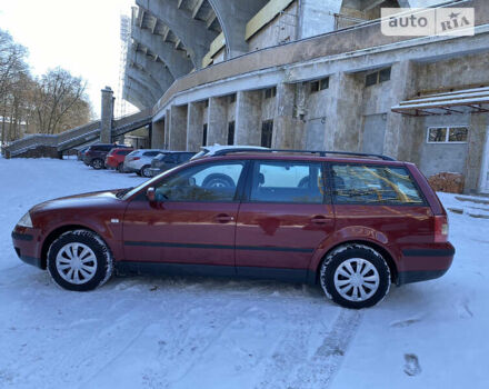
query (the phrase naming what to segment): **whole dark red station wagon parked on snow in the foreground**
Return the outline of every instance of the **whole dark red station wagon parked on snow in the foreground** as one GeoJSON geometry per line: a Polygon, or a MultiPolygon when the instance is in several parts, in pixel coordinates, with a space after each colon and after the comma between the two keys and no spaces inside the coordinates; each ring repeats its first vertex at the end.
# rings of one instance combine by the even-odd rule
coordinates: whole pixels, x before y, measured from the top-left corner
{"type": "Polygon", "coordinates": [[[348,308],[441,277],[455,255],[415,164],[323,151],[226,150],[137,188],[38,205],[12,238],[69,290],[113,271],[273,278],[319,283],[348,308]]]}

